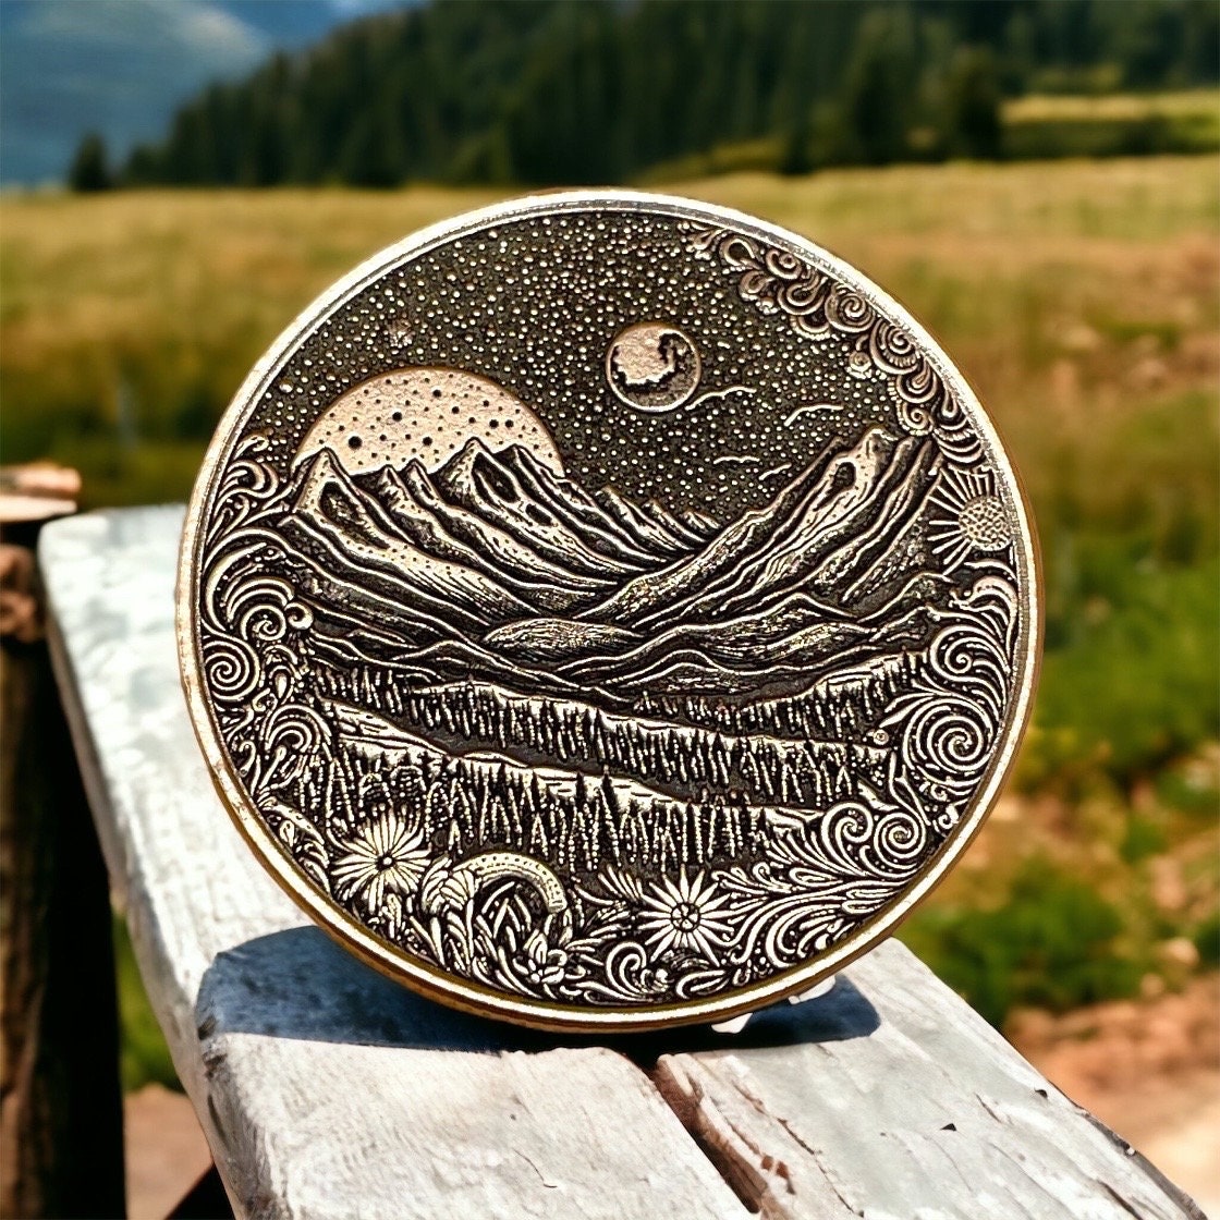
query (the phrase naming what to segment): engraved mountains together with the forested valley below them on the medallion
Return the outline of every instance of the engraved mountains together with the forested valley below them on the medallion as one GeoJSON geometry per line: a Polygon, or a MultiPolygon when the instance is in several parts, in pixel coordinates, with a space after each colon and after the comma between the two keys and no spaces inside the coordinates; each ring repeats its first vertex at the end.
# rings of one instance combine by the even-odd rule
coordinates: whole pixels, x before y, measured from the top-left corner
{"type": "MultiPolygon", "coordinates": [[[[911,529],[935,454],[870,429],[722,529],[518,445],[354,477],[323,448],[278,498],[267,566],[311,608],[348,778],[450,773],[429,826],[450,850],[744,860],[853,776],[883,782],[877,716],[952,588],[911,529]]],[[[322,770],[296,808],[342,802],[322,770]]]]}

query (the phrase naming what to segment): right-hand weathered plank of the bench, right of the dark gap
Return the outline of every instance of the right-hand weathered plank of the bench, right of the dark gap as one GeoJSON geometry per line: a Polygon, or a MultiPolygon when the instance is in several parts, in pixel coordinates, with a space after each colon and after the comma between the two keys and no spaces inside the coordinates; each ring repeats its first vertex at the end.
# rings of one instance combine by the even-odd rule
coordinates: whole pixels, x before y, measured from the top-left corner
{"type": "Polygon", "coordinates": [[[800,1041],[772,1028],[778,1046],[664,1055],[655,1074],[764,1216],[1204,1220],[900,943],[802,1008],[800,1041]]]}

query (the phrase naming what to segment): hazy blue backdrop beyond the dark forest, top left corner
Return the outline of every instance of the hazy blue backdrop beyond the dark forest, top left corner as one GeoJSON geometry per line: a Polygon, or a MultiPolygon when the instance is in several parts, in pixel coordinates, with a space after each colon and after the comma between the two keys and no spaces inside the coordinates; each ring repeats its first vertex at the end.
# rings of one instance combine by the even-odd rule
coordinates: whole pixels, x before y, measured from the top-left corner
{"type": "Polygon", "coordinates": [[[0,183],[62,179],[84,132],[160,135],[211,81],[406,0],[0,0],[0,183]]]}

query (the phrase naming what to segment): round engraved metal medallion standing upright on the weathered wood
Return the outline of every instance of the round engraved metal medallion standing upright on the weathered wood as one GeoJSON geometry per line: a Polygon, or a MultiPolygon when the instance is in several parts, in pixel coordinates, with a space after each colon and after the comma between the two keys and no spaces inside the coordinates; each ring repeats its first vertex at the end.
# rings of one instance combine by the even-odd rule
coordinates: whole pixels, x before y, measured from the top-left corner
{"type": "Polygon", "coordinates": [[[192,716],[366,960],[550,1027],[717,1020],[886,935],[993,802],[1030,520],[936,344],[737,212],[428,229],[250,375],[187,518],[192,716]]]}

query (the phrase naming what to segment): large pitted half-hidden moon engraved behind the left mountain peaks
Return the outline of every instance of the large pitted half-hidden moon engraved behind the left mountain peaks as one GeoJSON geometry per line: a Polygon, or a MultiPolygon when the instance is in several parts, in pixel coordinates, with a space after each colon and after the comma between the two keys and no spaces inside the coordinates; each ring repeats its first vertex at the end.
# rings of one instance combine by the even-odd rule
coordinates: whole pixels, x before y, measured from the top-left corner
{"type": "Polygon", "coordinates": [[[353,386],[323,411],[298,456],[328,448],[351,475],[405,466],[438,470],[471,438],[517,444],[564,473],[547,426],[501,386],[461,368],[398,368],[353,386]]]}

